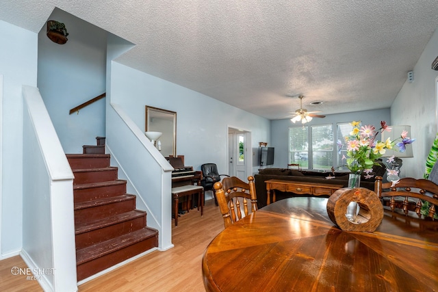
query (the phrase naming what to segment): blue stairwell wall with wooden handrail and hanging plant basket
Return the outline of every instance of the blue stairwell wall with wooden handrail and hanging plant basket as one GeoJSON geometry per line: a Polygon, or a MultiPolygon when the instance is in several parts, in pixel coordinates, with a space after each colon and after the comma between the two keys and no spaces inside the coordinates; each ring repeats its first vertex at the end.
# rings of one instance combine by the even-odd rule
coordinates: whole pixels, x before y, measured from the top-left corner
{"type": "Polygon", "coordinates": [[[86,21],[55,9],[49,19],[66,25],[66,44],[47,38],[44,25],[38,34],[38,88],[62,147],[81,153],[105,136],[105,99],[79,111],[70,109],[105,92],[107,33],[86,21]]]}

